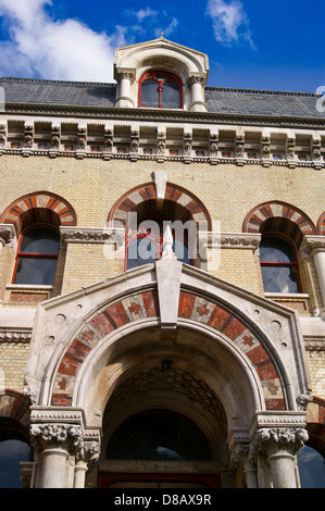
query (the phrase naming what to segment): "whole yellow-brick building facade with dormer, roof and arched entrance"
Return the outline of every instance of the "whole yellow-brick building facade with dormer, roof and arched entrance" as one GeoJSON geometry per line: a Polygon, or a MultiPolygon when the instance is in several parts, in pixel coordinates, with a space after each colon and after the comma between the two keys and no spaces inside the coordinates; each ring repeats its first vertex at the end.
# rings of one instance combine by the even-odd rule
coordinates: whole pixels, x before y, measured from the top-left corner
{"type": "Polygon", "coordinates": [[[208,87],[164,37],[114,71],[1,79],[0,439],[25,487],[299,488],[325,456],[322,97],[208,87]]]}

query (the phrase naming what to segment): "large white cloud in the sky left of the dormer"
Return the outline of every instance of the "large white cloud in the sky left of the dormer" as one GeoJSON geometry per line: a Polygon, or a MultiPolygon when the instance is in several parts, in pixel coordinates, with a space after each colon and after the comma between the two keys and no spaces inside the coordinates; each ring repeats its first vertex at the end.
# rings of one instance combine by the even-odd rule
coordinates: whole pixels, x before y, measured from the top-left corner
{"type": "Polygon", "coordinates": [[[78,20],[53,20],[50,0],[0,0],[8,32],[1,42],[0,74],[48,79],[112,82],[114,50],[125,29],[98,34],[78,20]]]}

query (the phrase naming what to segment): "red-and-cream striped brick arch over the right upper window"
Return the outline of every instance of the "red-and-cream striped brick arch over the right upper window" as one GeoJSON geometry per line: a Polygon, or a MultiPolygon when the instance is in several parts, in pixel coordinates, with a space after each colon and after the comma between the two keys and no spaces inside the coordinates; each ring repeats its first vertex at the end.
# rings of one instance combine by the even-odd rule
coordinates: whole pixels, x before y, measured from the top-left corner
{"type": "MultiPolygon", "coordinates": [[[[280,222],[283,225],[286,224],[286,221],[290,221],[290,223],[296,225],[299,237],[316,234],[316,228],[312,220],[303,211],[295,205],[277,200],[263,202],[253,208],[247,214],[242,229],[245,233],[261,233],[264,222],[271,220],[274,221],[274,224],[276,223],[275,221],[277,221],[277,223],[280,222]]],[[[287,224],[289,224],[289,222],[287,222],[287,224]]]]}

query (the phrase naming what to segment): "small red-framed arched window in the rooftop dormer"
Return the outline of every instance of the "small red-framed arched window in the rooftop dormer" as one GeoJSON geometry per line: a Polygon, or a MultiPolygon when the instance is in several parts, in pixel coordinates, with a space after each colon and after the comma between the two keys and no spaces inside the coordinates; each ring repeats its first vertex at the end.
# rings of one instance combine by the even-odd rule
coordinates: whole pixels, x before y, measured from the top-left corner
{"type": "Polygon", "coordinates": [[[139,80],[139,107],[182,109],[182,82],[165,71],[152,71],[139,80]]]}

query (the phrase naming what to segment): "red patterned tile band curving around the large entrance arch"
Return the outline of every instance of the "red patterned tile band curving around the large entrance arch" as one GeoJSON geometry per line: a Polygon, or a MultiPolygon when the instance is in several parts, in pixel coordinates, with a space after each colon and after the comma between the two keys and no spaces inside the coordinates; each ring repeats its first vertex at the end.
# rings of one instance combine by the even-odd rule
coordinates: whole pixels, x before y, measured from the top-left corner
{"type": "MultiPolygon", "coordinates": [[[[139,319],[159,319],[157,289],[125,297],[96,313],[70,342],[54,378],[52,406],[70,407],[80,367],[87,357],[109,334],[139,319]]],[[[235,342],[255,367],[264,390],[267,410],[285,410],[285,397],[277,367],[261,340],[243,322],[224,306],[189,291],[182,291],[178,317],[205,325],[235,342]]]]}

